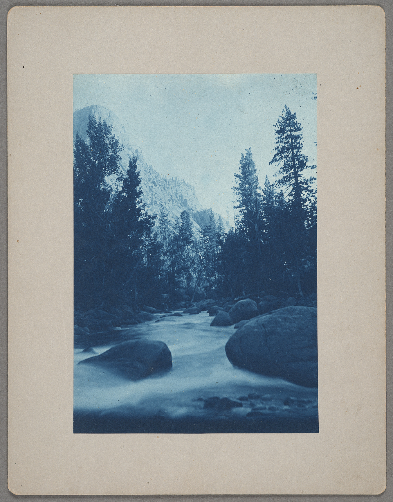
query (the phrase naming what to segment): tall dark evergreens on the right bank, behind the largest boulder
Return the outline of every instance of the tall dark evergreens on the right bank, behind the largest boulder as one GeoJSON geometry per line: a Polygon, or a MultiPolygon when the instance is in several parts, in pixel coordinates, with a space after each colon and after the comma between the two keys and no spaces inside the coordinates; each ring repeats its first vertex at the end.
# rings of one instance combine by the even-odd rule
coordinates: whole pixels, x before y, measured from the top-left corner
{"type": "Polygon", "coordinates": [[[315,166],[307,165],[301,124],[287,106],[274,127],[277,146],[270,164],[279,165],[278,181],[272,185],[266,176],[261,190],[251,149],[235,174],[239,212],[222,249],[225,294],[316,292],[315,178],[304,176],[315,166]]]}

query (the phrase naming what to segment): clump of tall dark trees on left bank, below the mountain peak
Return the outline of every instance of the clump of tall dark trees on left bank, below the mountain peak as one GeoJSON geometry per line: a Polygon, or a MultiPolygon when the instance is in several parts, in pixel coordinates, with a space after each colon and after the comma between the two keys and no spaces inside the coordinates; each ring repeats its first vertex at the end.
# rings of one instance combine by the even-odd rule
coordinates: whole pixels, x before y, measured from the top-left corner
{"type": "Polygon", "coordinates": [[[115,305],[136,294],[143,236],[152,226],[142,212],[136,171],[131,159],[122,188],[114,193],[108,176],[117,175],[121,146],[105,121],[89,117],[88,145],[74,146],[74,300],[80,306],[115,305]]]}

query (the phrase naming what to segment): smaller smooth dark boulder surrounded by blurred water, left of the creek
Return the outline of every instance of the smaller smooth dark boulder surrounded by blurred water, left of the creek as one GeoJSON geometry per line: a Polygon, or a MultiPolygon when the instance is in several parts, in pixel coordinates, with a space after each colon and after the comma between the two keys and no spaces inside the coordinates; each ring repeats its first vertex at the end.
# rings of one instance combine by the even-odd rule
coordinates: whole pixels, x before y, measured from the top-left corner
{"type": "Polygon", "coordinates": [[[110,348],[100,355],[89,357],[79,364],[93,364],[138,380],[151,373],[172,367],[172,354],[164,342],[130,340],[110,348]]]}

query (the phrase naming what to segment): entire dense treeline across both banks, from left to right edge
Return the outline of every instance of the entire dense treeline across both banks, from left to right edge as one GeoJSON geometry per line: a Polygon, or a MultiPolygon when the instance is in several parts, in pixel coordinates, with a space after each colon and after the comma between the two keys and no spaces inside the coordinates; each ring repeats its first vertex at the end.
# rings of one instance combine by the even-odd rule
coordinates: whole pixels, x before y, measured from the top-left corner
{"type": "Polygon", "coordinates": [[[302,128],[285,107],[275,124],[271,163],[278,181],[261,187],[251,149],[235,174],[235,228],[208,212],[201,230],[187,211],[173,226],[161,206],[142,204],[137,158],[119,169],[122,150],[105,121],[89,117],[88,143],[74,144],[74,303],[81,309],[162,307],[203,298],[316,292],[316,192],[305,178],[302,128]]]}

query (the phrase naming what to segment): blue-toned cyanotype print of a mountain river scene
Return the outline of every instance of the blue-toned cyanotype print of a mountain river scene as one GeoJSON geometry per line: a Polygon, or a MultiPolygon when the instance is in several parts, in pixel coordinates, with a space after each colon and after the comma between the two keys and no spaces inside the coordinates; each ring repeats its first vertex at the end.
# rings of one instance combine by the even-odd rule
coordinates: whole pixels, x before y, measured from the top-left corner
{"type": "Polygon", "coordinates": [[[316,74],[74,75],[74,433],[316,433],[316,74]]]}

